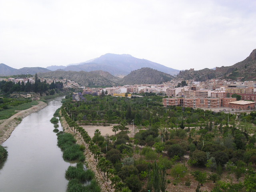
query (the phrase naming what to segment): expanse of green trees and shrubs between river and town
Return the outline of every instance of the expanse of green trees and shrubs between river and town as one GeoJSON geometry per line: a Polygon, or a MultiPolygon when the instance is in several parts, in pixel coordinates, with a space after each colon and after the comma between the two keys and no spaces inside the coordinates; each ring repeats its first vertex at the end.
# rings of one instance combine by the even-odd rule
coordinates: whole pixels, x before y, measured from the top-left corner
{"type": "Polygon", "coordinates": [[[155,94],[80,98],[66,96],[62,110],[116,191],[255,191],[256,112],[164,108],[155,94]],[[114,124],[115,134],[90,138],[79,124],[114,124]]]}

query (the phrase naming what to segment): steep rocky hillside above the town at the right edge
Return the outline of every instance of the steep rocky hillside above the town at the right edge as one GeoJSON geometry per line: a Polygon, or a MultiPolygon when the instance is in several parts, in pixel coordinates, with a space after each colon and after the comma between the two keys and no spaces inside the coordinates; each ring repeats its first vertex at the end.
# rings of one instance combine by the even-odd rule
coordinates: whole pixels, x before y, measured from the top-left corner
{"type": "Polygon", "coordinates": [[[208,68],[198,71],[184,70],[180,71],[177,77],[195,81],[204,81],[211,78],[240,79],[242,81],[256,80],[256,49],[245,60],[232,66],[216,67],[216,70],[208,68]]]}

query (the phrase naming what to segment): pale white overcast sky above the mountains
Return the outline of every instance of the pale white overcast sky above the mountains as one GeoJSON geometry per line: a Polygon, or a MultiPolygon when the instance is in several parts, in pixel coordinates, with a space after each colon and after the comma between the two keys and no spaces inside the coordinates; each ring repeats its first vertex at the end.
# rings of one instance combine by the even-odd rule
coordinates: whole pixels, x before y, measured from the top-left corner
{"type": "Polygon", "coordinates": [[[255,0],[0,0],[0,63],[13,68],[114,53],[199,70],[255,48],[255,0]]]}

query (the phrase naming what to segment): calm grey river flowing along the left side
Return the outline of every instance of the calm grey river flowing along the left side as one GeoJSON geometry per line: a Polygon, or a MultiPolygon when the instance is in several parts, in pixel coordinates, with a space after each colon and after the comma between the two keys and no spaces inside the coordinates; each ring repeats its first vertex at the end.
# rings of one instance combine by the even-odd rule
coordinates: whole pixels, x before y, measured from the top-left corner
{"type": "MultiPolygon", "coordinates": [[[[8,147],[8,158],[0,169],[0,192],[66,191],[65,171],[70,163],[63,160],[50,123],[62,98],[24,118],[2,144],[8,147]]],[[[58,129],[62,130],[60,124],[58,129]]]]}

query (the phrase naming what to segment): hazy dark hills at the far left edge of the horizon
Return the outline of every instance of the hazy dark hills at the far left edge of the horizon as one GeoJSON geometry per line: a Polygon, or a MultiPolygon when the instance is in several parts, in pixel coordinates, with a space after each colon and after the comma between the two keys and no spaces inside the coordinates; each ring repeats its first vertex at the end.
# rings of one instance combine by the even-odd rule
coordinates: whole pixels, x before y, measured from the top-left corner
{"type": "Polygon", "coordinates": [[[19,75],[19,74],[36,74],[38,72],[48,72],[50,70],[42,67],[24,67],[20,69],[15,69],[9,67],[6,64],[0,64],[0,76],[8,76],[8,75],[19,75]]]}

